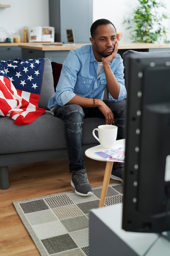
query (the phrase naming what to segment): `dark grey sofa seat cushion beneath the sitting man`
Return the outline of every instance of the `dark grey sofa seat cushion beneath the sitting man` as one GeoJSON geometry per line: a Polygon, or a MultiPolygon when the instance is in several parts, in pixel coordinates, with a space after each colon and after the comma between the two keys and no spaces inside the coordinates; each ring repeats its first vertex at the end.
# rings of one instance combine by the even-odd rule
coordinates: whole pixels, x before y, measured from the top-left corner
{"type": "MultiPolygon", "coordinates": [[[[105,119],[86,118],[83,124],[82,144],[98,141],[92,130],[105,124],[105,119]]],[[[64,121],[46,111],[33,123],[16,126],[10,117],[0,117],[0,154],[33,152],[66,148],[64,121]]],[[[57,157],[56,157],[57,158],[57,157]]]]}

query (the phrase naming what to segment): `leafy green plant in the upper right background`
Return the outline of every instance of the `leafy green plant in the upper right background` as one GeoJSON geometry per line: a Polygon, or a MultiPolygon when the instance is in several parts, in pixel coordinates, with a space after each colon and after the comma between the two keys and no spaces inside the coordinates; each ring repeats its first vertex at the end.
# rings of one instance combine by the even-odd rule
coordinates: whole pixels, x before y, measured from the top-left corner
{"type": "Polygon", "coordinates": [[[163,19],[169,17],[164,13],[166,4],[156,0],[138,0],[131,18],[124,18],[123,24],[128,24],[130,39],[133,43],[170,43],[167,40],[167,29],[162,25],[163,19]]]}

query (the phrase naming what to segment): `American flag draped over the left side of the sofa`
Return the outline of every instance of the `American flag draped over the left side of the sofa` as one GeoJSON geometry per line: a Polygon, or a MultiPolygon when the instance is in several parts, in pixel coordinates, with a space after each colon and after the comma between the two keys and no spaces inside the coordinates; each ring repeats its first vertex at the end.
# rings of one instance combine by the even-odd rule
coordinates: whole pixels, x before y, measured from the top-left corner
{"type": "Polygon", "coordinates": [[[43,58],[0,61],[0,116],[22,125],[45,112],[38,107],[43,70],[43,58]]]}

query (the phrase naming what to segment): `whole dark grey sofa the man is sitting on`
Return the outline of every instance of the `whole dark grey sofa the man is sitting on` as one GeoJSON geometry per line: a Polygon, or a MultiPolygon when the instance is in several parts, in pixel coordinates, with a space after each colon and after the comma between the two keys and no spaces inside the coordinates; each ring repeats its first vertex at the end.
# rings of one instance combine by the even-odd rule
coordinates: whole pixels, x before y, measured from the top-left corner
{"type": "MultiPolygon", "coordinates": [[[[53,117],[47,108],[49,98],[54,93],[54,81],[51,62],[45,58],[39,107],[46,112],[33,123],[15,125],[10,117],[0,117],[0,186],[9,188],[10,173],[8,166],[33,162],[42,162],[67,157],[64,135],[64,121],[53,117]]],[[[92,130],[104,119],[84,119],[82,152],[97,145],[92,130]]]]}

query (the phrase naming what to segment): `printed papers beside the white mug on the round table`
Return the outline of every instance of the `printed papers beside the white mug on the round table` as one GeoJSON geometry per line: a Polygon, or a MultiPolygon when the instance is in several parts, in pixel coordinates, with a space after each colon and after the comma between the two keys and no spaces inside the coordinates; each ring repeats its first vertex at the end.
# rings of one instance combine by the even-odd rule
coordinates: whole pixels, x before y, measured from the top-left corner
{"type": "Polygon", "coordinates": [[[117,144],[114,149],[95,152],[107,159],[107,161],[124,162],[125,160],[125,145],[117,144]]]}

